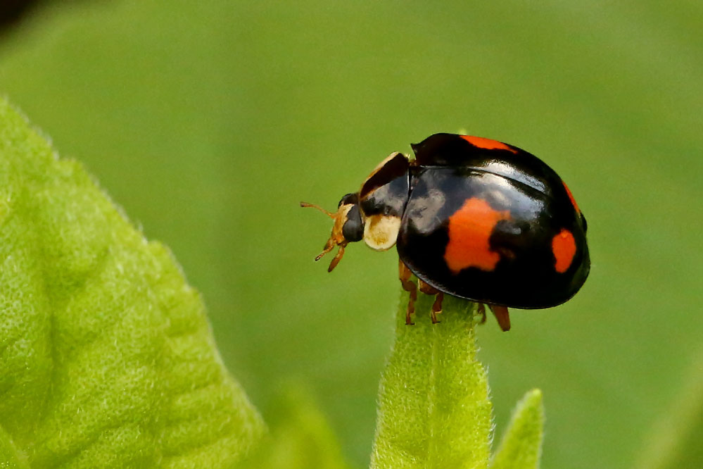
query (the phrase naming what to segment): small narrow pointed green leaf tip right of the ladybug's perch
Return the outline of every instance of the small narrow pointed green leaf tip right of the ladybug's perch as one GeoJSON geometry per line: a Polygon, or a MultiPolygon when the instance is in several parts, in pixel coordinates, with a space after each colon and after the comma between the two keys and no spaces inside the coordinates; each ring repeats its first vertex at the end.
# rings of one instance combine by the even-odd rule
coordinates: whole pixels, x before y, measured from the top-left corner
{"type": "Polygon", "coordinates": [[[517,404],[493,456],[491,469],[535,469],[540,465],[545,412],[542,392],[532,389],[517,404]]]}

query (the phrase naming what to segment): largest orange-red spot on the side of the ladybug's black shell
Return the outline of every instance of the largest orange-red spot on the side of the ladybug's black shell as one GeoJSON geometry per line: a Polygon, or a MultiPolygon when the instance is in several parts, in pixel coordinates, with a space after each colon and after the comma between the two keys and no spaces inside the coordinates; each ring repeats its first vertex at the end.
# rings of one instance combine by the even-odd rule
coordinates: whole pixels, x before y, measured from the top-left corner
{"type": "Polygon", "coordinates": [[[449,217],[449,242],[444,251],[444,260],[453,273],[477,267],[493,270],[500,261],[500,254],[490,250],[488,238],[495,224],[508,220],[509,211],[490,208],[488,202],[471,197],[462,208],[449,217]]]}

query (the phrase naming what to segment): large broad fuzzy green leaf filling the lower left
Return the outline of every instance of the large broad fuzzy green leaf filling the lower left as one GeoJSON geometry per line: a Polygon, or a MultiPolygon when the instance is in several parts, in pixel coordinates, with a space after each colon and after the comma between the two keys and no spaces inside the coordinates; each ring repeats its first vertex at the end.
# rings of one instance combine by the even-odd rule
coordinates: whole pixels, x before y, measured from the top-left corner
{"type": "Polygon", "coordinates": [[[0,466],[224,468],[262,430],[170,251],[0,99],[0,466]]]}

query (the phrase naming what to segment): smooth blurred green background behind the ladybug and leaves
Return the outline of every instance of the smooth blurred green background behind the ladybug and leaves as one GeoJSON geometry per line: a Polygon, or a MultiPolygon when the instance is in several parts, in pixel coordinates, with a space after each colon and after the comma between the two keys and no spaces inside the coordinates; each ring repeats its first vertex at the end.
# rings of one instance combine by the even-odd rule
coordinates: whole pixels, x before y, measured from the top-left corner
{"type": "Polygon", "coordinates": [[[334,208],[434,132],[537,154],[588,218],[593,266],[568,304],[479,330],[497,435],[540,387],[543,468],[655,467],[669,451],[694,468],[701,24],[693,1],[53,2],[0,37],[0,92],[171,247],[265,418],[303,383],[356,467],[397,261],[350,246],[328,275],[312,258],[329,219],[298,201],[334,208]]]}

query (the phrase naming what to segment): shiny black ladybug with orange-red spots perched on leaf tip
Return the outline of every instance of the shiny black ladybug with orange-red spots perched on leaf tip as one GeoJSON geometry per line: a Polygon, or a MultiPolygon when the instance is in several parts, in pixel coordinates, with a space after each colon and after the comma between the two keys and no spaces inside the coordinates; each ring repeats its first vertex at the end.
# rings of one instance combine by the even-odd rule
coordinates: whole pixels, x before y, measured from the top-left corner
{"type": "Polygon", "coordinates": [[[543,161],[517,146],[469,135],[435,134],[412,144],[414,159],[393,153],[358,192],[346,194],[315,261],[338,246],[331,272],[350,242],[376,251],[395,244],[399,277],[410,292],[483,304],[502,330],[507,308],[550,308],[574,296],[588,277],[586,220],[569,187],[543,161]],[[418,279],[417,286],[411,281],[418,279]]]}

